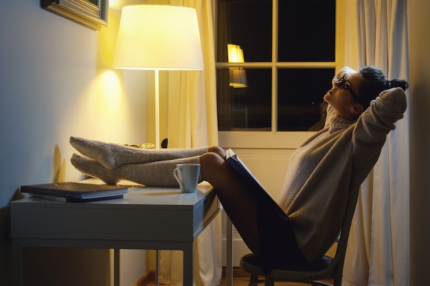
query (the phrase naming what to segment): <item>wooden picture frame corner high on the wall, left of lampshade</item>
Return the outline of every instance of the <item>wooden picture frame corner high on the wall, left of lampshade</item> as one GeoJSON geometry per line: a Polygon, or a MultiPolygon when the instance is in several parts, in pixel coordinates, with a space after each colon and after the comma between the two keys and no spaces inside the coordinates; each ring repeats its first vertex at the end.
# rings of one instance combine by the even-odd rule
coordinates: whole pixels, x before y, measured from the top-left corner
{"type": "Polygon", "coordinates": [[[107,26],[108,0],[41,0],[41,8],[91,29],[107,26]]]}

